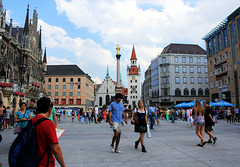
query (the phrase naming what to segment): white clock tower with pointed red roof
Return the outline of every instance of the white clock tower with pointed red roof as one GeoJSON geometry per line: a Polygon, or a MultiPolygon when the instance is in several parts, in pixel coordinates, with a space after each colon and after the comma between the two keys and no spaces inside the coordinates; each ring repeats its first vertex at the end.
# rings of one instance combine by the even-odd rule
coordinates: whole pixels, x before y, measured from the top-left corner
{"type": "Polygon", "coordinates": [[[137,66],[137,57],[133,46],[131,55],[131,67],[127,67],[128,78],[128,102],[131,107],[137,107],[138,100],[141,99],[141,69],[137,66]]]}

